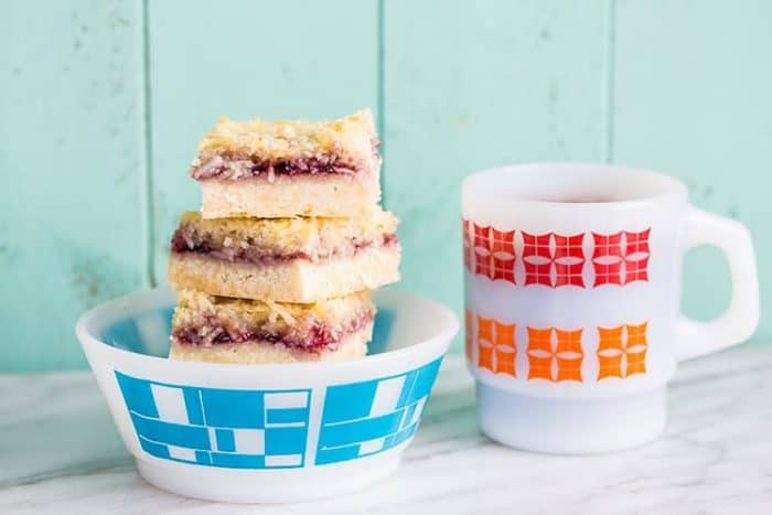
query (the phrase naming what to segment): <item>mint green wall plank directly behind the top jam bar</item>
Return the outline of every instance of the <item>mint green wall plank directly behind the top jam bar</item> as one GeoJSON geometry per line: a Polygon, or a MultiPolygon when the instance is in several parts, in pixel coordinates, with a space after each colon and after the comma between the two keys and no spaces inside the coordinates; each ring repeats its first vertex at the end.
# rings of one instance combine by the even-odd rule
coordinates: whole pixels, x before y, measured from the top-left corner
{"type": "Polygon", "coordinates": [[[187,178],[219,116],[333,118],[377,98],[375,0],[150,6],[156,271],[165,281],[179,215],[197,210],[187,178]]]}

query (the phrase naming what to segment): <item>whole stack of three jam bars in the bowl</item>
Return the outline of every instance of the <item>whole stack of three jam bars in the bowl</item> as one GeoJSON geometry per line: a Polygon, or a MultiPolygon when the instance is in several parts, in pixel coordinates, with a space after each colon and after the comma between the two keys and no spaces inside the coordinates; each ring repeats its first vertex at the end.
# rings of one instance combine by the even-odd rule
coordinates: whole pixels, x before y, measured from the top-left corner
{"type": "Polygon", "coordinates": [[[399,279],[369,111],[336,121],[230,121],[191,175],[201,213],[172,237],[173,360],[287,363],[364,356],[371,290],[399,279]]]}

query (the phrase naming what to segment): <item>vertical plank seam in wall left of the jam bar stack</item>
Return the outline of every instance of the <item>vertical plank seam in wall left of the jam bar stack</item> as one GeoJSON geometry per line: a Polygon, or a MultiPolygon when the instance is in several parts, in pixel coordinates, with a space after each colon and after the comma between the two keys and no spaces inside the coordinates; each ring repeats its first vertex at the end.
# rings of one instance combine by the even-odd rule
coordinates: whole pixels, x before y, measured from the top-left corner
{"type": "Polygon", "coordinates": [[[156,287],[154,250],[154,203],[152,162],[152,103],[150,82],[150,14],[149,0],[142,0],[142,225],[143,234],[143,277],[144,286],[156,287]]]}

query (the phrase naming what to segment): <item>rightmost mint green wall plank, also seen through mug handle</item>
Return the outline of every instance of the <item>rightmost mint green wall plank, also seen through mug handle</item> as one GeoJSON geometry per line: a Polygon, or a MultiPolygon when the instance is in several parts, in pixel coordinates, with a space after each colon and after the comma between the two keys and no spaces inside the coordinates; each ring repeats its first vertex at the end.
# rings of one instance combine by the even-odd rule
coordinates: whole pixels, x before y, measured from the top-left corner
{"type": "MultiPolygon", "coordinates": [[[[771,28],[770,2],[616,6],[614,160],[675,174],[695,204],[747,224],[762,292],[772,289],[771,28]]],[[[720,312],[730,287],[718,253],[695,253],[685,273],[686,311],[720,312]]],[[[772,302],[761,320],[757,339],[769,339],[772,302]]]]}

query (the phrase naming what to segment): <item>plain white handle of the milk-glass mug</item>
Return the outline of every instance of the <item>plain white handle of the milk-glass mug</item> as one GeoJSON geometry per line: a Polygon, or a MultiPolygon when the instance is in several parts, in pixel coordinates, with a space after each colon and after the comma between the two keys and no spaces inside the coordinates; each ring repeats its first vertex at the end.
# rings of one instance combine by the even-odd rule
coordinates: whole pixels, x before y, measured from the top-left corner
{"type": "Polygon", "coordinates": [[[689,360],[742,343],[759,325],[759,276],[751,234],[733,219],[689,207],[683,249],[718,247],[729,261],[732,296],[721,315],[698,322],[682,315],[676,331],[676,358],[689,360]]]}

